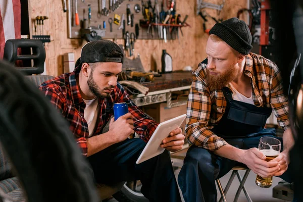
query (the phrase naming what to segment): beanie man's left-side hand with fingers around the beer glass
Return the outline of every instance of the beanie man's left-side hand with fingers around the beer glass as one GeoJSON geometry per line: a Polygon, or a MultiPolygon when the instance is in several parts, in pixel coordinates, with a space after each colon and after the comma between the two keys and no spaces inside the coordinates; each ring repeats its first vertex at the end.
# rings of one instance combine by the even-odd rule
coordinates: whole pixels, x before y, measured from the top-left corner
{"type": "Polygon", "coordinates": [[[273,160],[267,162],[265,159],[266,156],[258,148],[250,148],[244,150],[241,163],[261,177],[269,177],[276,174],[280,170],[281,164],[273,160]]]}

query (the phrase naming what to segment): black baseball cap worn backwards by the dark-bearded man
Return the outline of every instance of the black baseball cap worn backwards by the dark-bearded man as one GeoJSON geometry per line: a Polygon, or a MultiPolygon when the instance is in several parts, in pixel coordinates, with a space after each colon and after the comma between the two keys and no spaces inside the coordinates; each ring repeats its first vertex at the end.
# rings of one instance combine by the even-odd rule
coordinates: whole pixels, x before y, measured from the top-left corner
{"type": "Polygon", "coordinates": [[[121,48],[111,40],[101,39],[86,43],[81,49],[80,63],[115,62],[123,63],[121,48]],[[120,53],[119,57],[107,57],[113,50],[120,53]]]}

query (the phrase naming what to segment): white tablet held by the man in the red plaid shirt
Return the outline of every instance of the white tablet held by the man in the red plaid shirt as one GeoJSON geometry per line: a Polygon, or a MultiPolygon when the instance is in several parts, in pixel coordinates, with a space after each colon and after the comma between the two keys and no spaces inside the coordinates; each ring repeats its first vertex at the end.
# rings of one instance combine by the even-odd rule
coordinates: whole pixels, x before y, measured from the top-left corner
{"type": "Polygon", "coordinates": [[[145,145],[140,157],[138,158],[136,164],[142,163],[148,159],[156,157],[163,153],[165,148],[160,146],[162,140],[169,136],[169,133],[182,124],[184,119],[186,118],[186,114],[178,116],[176,118],[167,120],[158,125],[153,135],[145,145]]]}

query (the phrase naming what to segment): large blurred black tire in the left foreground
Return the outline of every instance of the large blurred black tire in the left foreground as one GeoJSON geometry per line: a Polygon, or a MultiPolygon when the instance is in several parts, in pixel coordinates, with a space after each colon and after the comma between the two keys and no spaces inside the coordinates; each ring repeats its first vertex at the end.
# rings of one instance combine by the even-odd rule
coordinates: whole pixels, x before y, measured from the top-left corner
{"type": "Polygon", "coordinates": [[[0,61],[0,141],[27,201],[99,201],[65,119],[11,64],[0,61]]]}

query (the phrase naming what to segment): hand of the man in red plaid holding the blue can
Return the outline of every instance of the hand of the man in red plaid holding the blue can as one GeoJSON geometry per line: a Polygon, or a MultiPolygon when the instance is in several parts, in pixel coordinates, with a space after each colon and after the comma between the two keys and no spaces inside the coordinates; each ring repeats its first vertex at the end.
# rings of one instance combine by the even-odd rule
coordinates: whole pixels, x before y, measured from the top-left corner
{"type": "Polygon", "coordinates": [[[134,121],[131,113],[119,117],[116,121],[112,118],[109,132],[116,143],[125,140],[129,135],[134,133],[134,121]]]}

